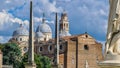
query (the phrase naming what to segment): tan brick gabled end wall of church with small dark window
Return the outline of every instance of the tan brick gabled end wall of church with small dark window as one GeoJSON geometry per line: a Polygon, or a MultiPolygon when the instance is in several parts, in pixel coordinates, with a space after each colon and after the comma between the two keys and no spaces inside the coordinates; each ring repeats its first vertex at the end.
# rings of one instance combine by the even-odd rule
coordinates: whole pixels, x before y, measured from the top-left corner
{"type": "Polygon", "coordinates": [[[68,40],[65,68],[85,68],[86,61],[89,68],[99,68],[97,62],[103,59],[102,45],[88,34],[79,35],[75,38],[76,41],[68,40]],[[74,64],[72,64],[73,57],[74,64]]]}

